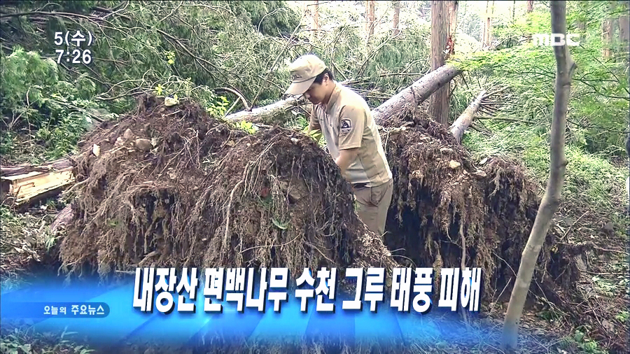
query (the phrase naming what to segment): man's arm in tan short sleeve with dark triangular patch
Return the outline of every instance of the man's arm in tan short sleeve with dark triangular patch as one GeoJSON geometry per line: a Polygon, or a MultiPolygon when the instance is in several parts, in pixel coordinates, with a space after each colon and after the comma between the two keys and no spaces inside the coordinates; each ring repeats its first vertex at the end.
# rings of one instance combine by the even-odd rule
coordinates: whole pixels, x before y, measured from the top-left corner
{"type": "Polygon", "coordinates": [[[342,176],[358,155],[364,128],[365,111],[345,106],[339,114],[339,157],[335,160],[342,176]]]}

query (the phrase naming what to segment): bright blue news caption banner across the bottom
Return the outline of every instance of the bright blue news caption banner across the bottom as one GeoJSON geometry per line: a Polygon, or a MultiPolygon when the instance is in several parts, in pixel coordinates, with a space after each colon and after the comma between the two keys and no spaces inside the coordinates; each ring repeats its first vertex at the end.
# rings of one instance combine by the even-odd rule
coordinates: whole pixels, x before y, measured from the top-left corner
{"type": "MultiPolygon", "coordinates": [[[[186,346],[216,337],[283,342],[332,337],[348,344],[363,340],[479,343],[491,335],[490,330],[462,323],[450,302],[442,308],[431,306],[430,291],[414,285],[423,282],[421,276],[416,282],[399,274],[393,286],[398,290],[390,297],[382,296],[383,290],[379,293],[369,276],[355,283],[355,292],[342,292],[335,279],[330,280],[332,273],[323,282],[303,274],[297,288],[280,286],[287,283],[280,273],[267,281],[258,274],[256,281],[243,276],[247,281],[239,282],[238,271],[231,280],[207,272],[199,283],[190,274],[183,282],[169,274],[158,271],[154,279],[138,271],[135,279],[110,285],[34,283],[1,294],[0,318],[28,319],[36,332],[77,332],[108,346],[135,340],[186,346]]],[[[470,297],[470,280],[454,284],[451,295],[456,294],[454,303],[462,311],[460,298],[470,297]]]]}

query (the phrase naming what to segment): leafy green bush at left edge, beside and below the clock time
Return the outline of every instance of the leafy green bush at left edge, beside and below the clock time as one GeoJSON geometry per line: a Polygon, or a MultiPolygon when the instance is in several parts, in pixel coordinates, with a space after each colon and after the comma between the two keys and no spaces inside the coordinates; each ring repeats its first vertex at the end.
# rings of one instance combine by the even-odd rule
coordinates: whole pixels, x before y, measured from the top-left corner
{"type": "Polygon", "coordinates": [[[18,133],[31,141],[25,148],[41,151],[43,160],[75,150],[90,122],[86,110],[99,108],[89,99],[94,82],[85,75],[73,83],[64,81],[52,59],[20,47],[1,56],[0,112],[5,129],[0,133],[0,153],[16,157],[18,133]]]}

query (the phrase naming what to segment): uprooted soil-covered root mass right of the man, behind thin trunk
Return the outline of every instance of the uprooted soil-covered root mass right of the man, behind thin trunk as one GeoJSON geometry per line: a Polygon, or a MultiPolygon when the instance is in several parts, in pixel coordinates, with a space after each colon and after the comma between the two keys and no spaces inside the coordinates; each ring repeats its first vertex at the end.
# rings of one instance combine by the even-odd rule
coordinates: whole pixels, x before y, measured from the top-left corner
{"type": "MultiPolygon", "coordinates": [[[[381,133],[394,176],[384,237],[393,257],[438,271],[481,267],[482,302],[507,302],[538,211],[536,185],[505,157],[488,157],[476,166],[447,129],[426,114],[401,122],[407,127],[381,133]]],[[[579,271],[568,250],[554,247],[556,236],[550,231],[545,239],[531,291],[563,302],[568,298],[563,294],[575,291],[579,271]]],[[[434,289],[439,283],[437,273],[434,289]]]]}

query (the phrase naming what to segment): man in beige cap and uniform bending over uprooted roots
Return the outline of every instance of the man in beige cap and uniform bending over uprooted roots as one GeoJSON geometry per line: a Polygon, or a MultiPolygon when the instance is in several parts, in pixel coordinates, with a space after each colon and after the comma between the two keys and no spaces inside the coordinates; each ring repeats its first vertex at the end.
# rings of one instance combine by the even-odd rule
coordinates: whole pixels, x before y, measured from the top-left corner
{"type": "Polygon", "coordinates": [[[315,55],[290,65],[286,94],[303,94],[313,104],[309,132],[321,130],[328,152],[352,185],[357,214],[372,232],[385,233],[393,180],[370,107],[356,92],[337,83],[315,55]]]}

